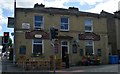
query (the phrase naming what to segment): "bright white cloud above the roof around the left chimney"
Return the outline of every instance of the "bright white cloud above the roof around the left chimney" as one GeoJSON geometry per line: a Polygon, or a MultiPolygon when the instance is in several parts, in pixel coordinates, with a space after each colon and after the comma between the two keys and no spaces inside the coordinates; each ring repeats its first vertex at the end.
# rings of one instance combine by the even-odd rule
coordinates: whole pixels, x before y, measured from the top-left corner
{"type": "Polygon", "coordinates": [[[45,7],[58,7],[58,8],[65,8],[64,3],[68,2],[69,0],[17,0],[17,7],[30,7],[33,8],[35,3],[43,3],[45,7]]]}

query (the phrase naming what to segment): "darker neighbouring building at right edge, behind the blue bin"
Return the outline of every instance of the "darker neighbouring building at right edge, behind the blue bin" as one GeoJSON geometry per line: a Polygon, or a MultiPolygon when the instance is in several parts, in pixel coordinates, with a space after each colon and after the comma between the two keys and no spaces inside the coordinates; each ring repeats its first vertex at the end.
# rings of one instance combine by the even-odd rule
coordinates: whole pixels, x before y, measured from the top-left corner
{"type": "Polygon", "coordinates": [[[101,15],[104,15],[107,20],[110,54],[117,55],[118,51],[120,51],[120,11],[116,11],[114,14],[102,11],[101,15]]]}

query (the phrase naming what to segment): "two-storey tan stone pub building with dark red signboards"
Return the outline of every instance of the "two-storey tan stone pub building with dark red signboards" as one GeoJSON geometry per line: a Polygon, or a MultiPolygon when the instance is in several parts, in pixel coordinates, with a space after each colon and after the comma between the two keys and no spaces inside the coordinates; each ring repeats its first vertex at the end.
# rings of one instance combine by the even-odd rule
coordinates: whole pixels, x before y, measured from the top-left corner
{"type": "Polygon", "coordinates": [[[108,63],[107,20],[101,14],[79,11],[69,7],[52,8],[35,4],[34,8],[16,8],[14,47],[16,61],[26,59],[50,59],[54,55],[64,61],[69,54],[69,63],[76,64],[83,56],[99,56],[108,63]],[[50,41],[50,28],[58,29],[56,49],[50,41]],[[38,57],[37,57],[37,56],[38,57]]]}

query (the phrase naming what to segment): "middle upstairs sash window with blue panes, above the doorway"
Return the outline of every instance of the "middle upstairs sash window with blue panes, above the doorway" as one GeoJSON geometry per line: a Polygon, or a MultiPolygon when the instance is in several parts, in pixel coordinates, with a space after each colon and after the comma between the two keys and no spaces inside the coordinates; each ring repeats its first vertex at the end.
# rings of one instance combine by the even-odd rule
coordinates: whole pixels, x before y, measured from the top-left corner
{"type": "Polygon", "coordinates": [[[68,18],[61,18],[61,25],[60,25],[60,30],[62,31],[68,31],[69,30],[69,22],[68,18]]]}

